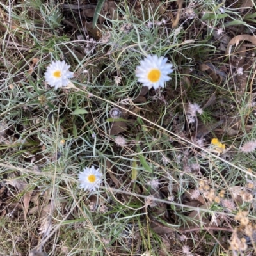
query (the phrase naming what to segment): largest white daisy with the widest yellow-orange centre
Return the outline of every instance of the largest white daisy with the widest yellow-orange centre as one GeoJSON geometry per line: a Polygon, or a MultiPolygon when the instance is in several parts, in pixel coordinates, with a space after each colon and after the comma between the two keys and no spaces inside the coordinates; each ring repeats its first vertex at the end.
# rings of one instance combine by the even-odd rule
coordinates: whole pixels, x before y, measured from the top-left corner
{"type": "Polygon", "coordinates": [[[168,74],[173,72],[173,65],[167,64],[167,61],[167,58],[148,55],[147,58],[140,61],[140,66],[136,67],[138,81],[149,89],[164,87],[164,83],[171,79],[168,74]]]}

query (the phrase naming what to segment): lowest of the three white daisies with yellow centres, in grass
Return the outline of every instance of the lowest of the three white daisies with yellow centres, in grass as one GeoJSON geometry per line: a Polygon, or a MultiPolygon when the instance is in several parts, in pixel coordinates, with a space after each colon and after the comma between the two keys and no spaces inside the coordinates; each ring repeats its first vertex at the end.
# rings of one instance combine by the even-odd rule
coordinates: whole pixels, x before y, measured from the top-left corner
{"type": "Polygon", "coordinates": [[[99,172],[99,168],[95,169],[94,166],[91,168],[86,167],[83,172],[79,173],[78,181],[81,183],[79,188],[88,189],[89,191],[96,190],[99,188],[102,182],[102,173],[99,172]]]}

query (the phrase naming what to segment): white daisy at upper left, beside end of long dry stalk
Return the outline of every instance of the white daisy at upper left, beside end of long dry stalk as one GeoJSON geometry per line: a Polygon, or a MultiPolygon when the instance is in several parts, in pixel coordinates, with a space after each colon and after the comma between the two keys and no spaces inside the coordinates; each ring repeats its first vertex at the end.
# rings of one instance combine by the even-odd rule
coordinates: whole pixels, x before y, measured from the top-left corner
{"type": "Polygon", "coordinates": [[[52,61],[52,63],[46,68],[44,74],[45,81],[49,83],[55,90],[61,87],[66,87],[70,83],[69,79],[74,77],[74,73],[68,69],[70,65],[67,65],[65,61],[52,61]]]}

